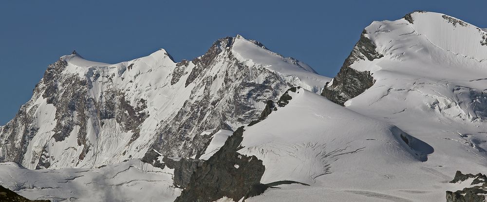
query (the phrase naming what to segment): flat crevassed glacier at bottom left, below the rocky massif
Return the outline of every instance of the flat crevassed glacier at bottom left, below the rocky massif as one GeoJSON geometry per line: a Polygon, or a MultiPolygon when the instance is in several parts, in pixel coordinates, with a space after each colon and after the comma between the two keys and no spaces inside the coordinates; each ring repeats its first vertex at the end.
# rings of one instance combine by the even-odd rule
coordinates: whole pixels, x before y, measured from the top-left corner
{"type": "Polygon", "coordinates": [[[171,202],[181,194],[174,170],[130,160],[101,168],[29,170],[0,163],[0,183],[31,200],[52,202],[171,202]]]}

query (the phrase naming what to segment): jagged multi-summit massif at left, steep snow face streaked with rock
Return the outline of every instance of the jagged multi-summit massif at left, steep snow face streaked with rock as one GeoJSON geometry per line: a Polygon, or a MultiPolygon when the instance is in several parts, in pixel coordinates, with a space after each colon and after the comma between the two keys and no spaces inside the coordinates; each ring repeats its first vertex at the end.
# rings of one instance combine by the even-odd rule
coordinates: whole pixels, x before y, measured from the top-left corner
{"type": "Polygon", "coordinates": [[[207,130],[233,130],[290,86],[319,92],[329,78],[241,36],[202,57],[164,50],[117,64],[63,56],[0,131],[0,161],[29,169],[97,167],[143,158],[199,157],[207,130]],[[255,59],[254,59],[255,57],[255,59]],[[297,75],[290,75],[297,72],[297,75]],[[147,153],[149,152],[149,153],[147,153]]]}

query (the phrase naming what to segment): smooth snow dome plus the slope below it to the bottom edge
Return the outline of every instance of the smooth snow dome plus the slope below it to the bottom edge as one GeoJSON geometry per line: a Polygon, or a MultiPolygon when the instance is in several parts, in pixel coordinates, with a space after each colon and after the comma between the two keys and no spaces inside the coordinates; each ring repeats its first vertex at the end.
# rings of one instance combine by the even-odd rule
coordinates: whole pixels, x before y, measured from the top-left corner
{"type": "Polygon", "coordinates": [[[263,161],[264,184],[310,186],[279,185],[246,201],[444,201],[445,190],[454,189],[446,182],[455,170],[484,168],[475,162],[431,161],[428,143],[390,123],[304,89],[289,95],[289,104],[245,127],[238,152],[263,161]],[[416,154],[429,155],[428,160],[416,154]]]}

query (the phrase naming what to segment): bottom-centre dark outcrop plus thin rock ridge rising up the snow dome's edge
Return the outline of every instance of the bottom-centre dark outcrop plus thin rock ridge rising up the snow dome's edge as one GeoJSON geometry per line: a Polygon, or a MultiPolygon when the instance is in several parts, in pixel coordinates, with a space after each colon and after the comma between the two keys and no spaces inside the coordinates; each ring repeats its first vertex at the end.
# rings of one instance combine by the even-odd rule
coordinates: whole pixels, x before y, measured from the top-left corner
{"type": "MultiPolygon", "coordinates": [[[[292,99],[288,92],[297,92],[298,89],[300,87],[291,87],[285,91],[276,103],[267,101],[260,118],[252,121],[249,126],[264,120],[272,111],[278,110],[277,105],[284,107],[292,99]]],[[[225,141],[220,150],[205,162],[201,162],[201,160],[198,162],[198,160],[192,159],[181,159],[179,162],[174,162],[170,159],[164,159],[169,168],[175,167],[175,183],[180,182],[180,184],[183,184],[180,187],[185,188],[181,196],[176,199],[176,202],[216,201],[223,197],[239,201],[260,195],[267,188],[281,184],[299,183],[308,185],[294,181],[262,184],[260,180],[265,170],[262,161],[255,156],[246,156],[237,152],[243,148],[240,144],[244,138],[244,131],[244,126],[239,127],[225,141]],[[190,180],[187,181],[189,179],[187,174],[190,172],[192,172],[192,175],[190,175],[190,180]]]]}

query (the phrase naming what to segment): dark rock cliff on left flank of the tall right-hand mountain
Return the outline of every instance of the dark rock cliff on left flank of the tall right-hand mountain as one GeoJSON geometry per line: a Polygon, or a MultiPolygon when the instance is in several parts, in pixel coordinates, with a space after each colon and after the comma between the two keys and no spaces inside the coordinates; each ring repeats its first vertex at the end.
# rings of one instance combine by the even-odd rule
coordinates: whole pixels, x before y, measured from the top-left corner
{"type": "Polygon", "coordinates": [[[364,30],[338,75],[331,81],[333,83],[325,85],[321,95],[328,100],[343,105],[345,101],[360,95],[374,85],[375,80],[369,71],[361,72],[350,67],[356,61],[373,61],[383,57],[375,51],[375,44],[365,36],[366,34],[367,31],[364,30]]]}

